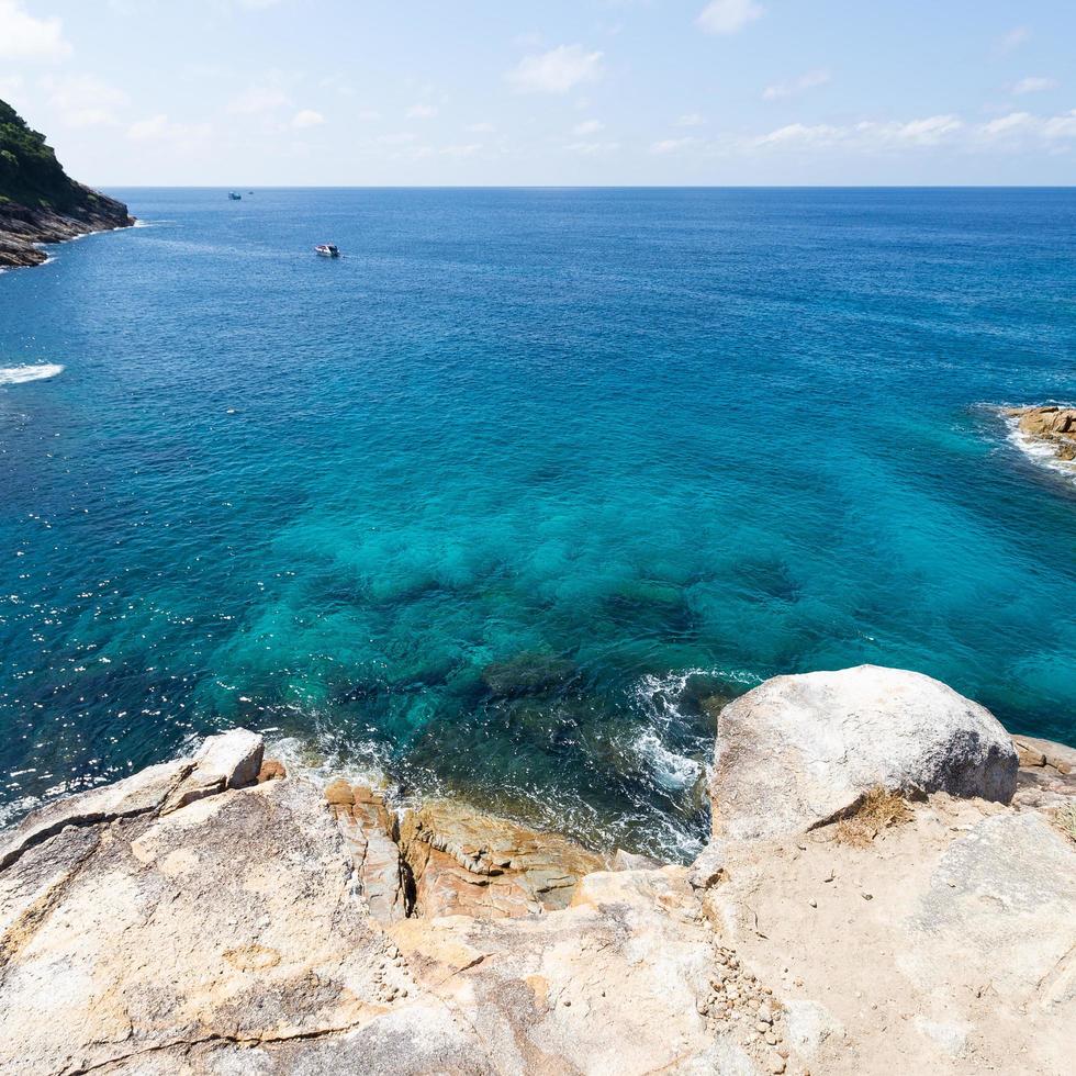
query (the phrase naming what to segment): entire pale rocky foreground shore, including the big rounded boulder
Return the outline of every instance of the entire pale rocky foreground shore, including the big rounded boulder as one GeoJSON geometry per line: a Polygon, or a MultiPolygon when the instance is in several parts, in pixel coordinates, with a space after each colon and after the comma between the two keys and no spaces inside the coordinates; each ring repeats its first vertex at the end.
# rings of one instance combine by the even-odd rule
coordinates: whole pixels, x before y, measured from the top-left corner
{"type": "Polygon", "coordinates": [[[778,677],[684,866],[235,730],[0,834],[0,1072],[1071,1072],[1074,767],[923,676],[778,677]]]}

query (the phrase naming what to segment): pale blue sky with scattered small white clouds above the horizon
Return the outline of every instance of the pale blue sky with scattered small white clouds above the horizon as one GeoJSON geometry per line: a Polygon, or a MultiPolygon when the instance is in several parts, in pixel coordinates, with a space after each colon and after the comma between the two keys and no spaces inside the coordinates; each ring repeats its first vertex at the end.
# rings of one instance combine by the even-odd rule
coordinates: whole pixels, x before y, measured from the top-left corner
{"type": "Polygon", "coordinates": [[[0,0],[83,182],[1064,184],[1076,0],[0,0]]]}

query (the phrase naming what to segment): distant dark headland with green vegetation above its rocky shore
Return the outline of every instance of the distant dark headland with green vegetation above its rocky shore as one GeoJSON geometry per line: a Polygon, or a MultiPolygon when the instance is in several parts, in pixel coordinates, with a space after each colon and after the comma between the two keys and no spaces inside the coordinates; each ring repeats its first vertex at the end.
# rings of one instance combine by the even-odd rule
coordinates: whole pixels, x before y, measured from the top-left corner
{"type": "Polygon", "coordinates": [[[0,268],[41,265],[38,244],[132,224],[126,205],[70,179],[44,135],[0,101],[0,268]]]}

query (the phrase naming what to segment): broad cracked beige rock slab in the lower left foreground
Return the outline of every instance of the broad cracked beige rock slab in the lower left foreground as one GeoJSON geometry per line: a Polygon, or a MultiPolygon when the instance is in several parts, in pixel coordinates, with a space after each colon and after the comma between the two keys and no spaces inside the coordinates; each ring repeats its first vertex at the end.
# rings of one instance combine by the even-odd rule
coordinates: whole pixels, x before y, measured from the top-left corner
{"type": "Polygon", "coordinates": [[[5,905],[42,889],[0,940],[0,1072],[321,1034],[380,1004],[382,943],[347,898],[340,839],[304,783],[226,791],[96,837],[87,851],[60,833],[0,874],[5,905]]]}

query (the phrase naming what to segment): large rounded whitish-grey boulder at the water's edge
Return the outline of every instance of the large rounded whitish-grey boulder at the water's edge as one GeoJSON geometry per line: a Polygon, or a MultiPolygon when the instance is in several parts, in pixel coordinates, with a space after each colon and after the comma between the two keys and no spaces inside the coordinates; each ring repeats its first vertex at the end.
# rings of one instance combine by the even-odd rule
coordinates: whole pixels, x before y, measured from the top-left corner
{"type": "Polygon", "coordinates": [[[805,831],[871,787],[1008,802],[1017,755],[985,707],[929,676],[860,665],[776,676],[718,718],[714,831],[805,831]]]}

